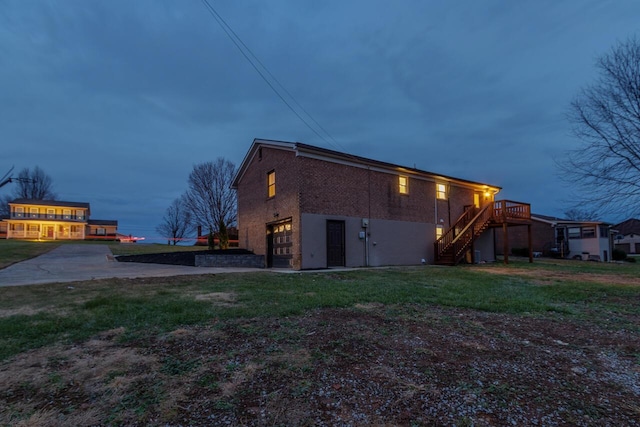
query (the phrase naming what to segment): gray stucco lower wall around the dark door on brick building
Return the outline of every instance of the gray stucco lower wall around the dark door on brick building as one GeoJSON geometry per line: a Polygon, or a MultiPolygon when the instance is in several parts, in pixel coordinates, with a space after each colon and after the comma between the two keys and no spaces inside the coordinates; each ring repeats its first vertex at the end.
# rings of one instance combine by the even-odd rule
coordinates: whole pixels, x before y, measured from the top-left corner
{"type": "Polygon", "coordinates": [[[433,263],[434,224],[370,220],[362,227],[362,218],[302,214],[302,268],[327,267],[327,220],[345,222],[345,262],[347,267],[366,265],[366,239],[359,233],[368,233],[369,266],[416,265],[424,258],[433,263]]]}

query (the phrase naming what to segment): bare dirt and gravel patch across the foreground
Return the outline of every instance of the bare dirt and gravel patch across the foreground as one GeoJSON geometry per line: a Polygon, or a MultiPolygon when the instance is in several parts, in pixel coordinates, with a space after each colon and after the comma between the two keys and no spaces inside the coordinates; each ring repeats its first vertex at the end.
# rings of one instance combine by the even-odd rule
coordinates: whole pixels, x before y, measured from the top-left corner
{"type": "Polygon", "coordinates": [[[559,315],[370,304],[123,332],[4,362],[0,424],[640,425],[637,332],[559,315]]]}

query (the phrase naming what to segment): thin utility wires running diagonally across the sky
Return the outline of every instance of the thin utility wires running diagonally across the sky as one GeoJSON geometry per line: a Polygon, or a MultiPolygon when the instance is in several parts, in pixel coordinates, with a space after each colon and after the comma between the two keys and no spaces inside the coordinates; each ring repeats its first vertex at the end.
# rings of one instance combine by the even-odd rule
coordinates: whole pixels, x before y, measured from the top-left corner
{"type": "MultiPolygon", "coordinates": [[[[251,49],[242,41],[242,39],[240,38],[240,36],[238,36],[238,34],[236,34],[235,31],[233,31],[233,28],[231,28],[231,26],[224,20],[224,18],[222,18],[222,16],[220,16],[220,14],[215,10],[215,8],[213,6],[211,6],[211,4],[209,3],[208,0],[201,0],[203,5],[207,8],[209,14],[216,20],[216,22],[218,23],[218,25],[220,25],[220,27],[222,28],[222,30],[225,32],[225,34],[227,35],[227,37],[229,37],[229,39],[233,42],[233,44],[236,46],[236,48],[240,51],[240,53],[242,54],[242,56],[245,57],[245,59],[247,61],[249,61],[249,63],[251,64],[251,66],[253,67],[254,70],[256,70],[256,72],[260,75],[260,77],[262,77],[262,79],[265,81],[265,83],[271,88],[271,90],[273,90],[273,92],[278,96],[278,98],[280,98],[280,100],[282,102],[284,102],[284,104],[309,128],[313,131],[313,133],[315,133],[320,139],[322,139],[324,142],[326,142],[329,145],[332,145],[334,147],[338,146],[338,142],[335,140],[335,138],[324,128],[322,127],[322,125],[320,123],[318,123],[318,121],[316,119],[313,118],[313,116],[304,109],[304,107],[302,105],[300,105],[300,103],[298,101],[296,101],[295,97],[282,85],[282,83],[280,83],[280,81],[269,71],[269,69],[267,68],[266,65],[264,65],[262,63],[262,61],[260,61],[260,59],[251,51],[251,49]],[[251,56],[251,57],[250,57],[251,56]],[[255,61],[255,62],[254,62],[255,61]],[[260,66],[258,67],[258,65],[256,65],[256,63],[260,66]],[[298,113],[298,111],[296,111],[296,109],[293,108],[293,106],[287,102],[287,100],[284,98],[284,96],[278,91],[278,89],[271,83],[271,81],[267,78],[267,76],[265,75],[265,73],[263,73],[263,71],[266,74],[268,74],[268,76],[271,78],[271,80],[273,80],[273,82],[275,82],[275,84],[277,86],[279,86],[284,93],[293,101],[293,103],[300,109],[302,110],[302,112],[304,112],[304,114],[307,115],[307,117],[322,131],[326,134],[327,137],[329,137],[331,139],[331,141],[327,140],[327,138],[323,135],[321,135],[318,130],[316,128],[314,128],[313,126],[311,126],[309,124],[309,122],[307,120],[305,120],[300,113],[298,113]]],[[[343,150],[344,151],[344,150],[343,150]]]]}

